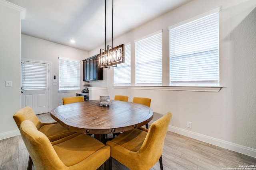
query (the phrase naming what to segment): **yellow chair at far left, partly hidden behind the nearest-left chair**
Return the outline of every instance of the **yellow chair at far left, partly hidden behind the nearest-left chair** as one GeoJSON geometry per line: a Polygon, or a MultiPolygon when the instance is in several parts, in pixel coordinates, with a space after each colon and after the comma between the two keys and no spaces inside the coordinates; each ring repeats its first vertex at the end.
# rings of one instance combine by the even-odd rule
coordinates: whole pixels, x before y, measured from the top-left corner
{"type": "MultiPolygon", "coordinates": [[[[16,122],[16,125],[18,128],[20,128],[20,124],[25,120],[30,120],[34,123],[36,126],[36,129],[38,129],[40,132],[44,133],[46,137],[52,142],[56,141],[58,139],[67,137],[69,135],[74,134],[75,132],[69,131],[68,129],[65,129],[60,125],[58,122],[52,122],[52,123],[44,123],[41,122],[31,107],[24,107],[22,109],[19,109],[16,111],[16,113],[13,115],[13,119],[16,122]]],[[[28,160],[28,169],[31,169],[33,165],[33,162],[31,158],[29,157],[28,160]]]]}

